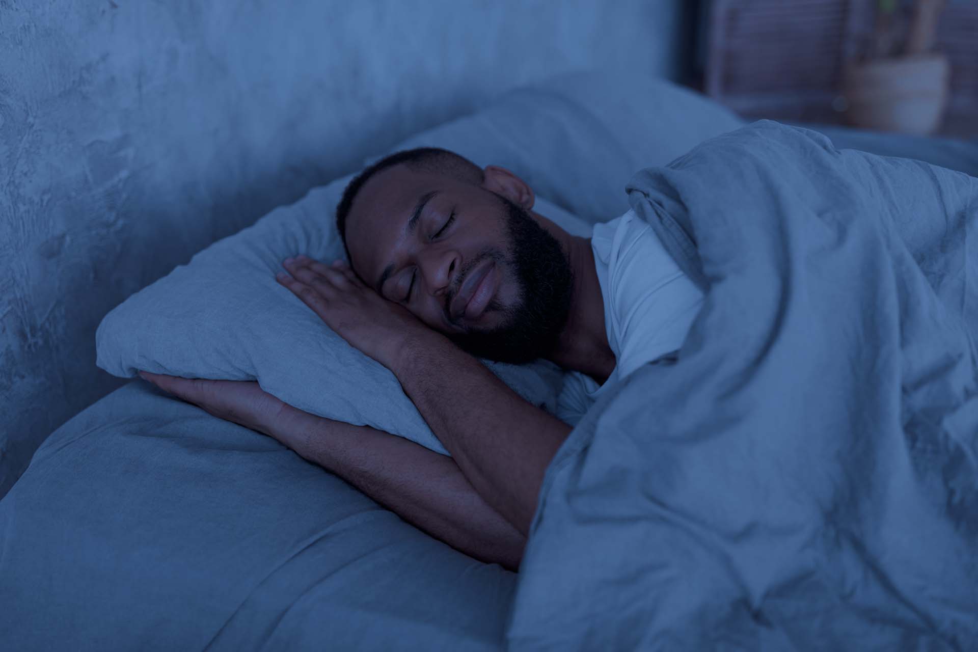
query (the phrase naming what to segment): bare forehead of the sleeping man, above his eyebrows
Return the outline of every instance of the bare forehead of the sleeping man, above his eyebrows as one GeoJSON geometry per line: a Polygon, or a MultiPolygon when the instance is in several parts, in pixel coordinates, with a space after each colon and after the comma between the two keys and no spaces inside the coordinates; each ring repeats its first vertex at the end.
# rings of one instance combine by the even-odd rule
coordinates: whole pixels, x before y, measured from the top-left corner
{"type": "Polygon", "coordinates": [[[346,218],[346,245],[353,269],[368,283],[390,261],[418,200],[425,193],[443,190],[441,176],[395,165],[371,177],[357,193],[346,218]]]}

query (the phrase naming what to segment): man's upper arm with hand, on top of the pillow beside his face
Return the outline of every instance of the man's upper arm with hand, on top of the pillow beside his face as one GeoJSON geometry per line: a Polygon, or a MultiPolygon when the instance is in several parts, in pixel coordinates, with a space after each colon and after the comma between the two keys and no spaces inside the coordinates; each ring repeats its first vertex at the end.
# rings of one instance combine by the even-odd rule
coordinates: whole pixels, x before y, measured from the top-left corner
{"type": "Polygon", "coordinates": [[[448,337],[342,261],[298,256],[277,277],[343,339],[390,369],[472,488],[524,536],[570,426],[523,400],[448,337]]]}

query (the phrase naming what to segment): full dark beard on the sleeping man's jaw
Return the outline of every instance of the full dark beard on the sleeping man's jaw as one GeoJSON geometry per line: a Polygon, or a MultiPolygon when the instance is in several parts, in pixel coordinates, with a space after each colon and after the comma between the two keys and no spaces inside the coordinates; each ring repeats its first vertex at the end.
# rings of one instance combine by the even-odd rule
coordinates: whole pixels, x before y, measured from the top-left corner
{"type": "Polygon", "coordinates": [[[469,262],[468,272],[486,258],[508,263],[517,285],[514,305],[496,298],[486,312],[502,314],[503,324],[491,330],[468,329],[451,339],[478,358],[521,365],[546,358],[556,349],[557,337],[567,323],[574,287],[574,273],[560,243],[537,224],[528,211],[504,196],[510,250],[485,249],[469,262]]]}

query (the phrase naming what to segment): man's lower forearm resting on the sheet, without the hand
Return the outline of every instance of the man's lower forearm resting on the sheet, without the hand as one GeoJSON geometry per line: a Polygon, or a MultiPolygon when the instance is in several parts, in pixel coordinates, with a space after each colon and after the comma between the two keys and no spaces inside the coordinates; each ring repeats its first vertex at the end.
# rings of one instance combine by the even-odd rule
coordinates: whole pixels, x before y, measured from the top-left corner
{"type": "Polygon", "coordinates": [[[519,567],[525,538],[482,500],[451,457],[299,411],[269,434],[431,536],[477,559],[519,567]]]}

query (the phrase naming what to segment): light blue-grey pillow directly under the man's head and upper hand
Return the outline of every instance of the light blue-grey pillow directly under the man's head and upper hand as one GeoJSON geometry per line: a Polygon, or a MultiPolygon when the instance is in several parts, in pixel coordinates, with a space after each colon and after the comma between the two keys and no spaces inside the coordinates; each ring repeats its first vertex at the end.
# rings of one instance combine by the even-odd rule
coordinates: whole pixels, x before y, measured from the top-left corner
{"type": "MultiPolygon", "coordinates": [[[[447,455],[397,378],[360,353],[275,280],[299,253],[343,258],[336,202],[352,178],[317,188],[251,227],[219,240],[189,264],[116,306],[96,332],[96,364],[113,375],[137,369],[188,378],[257,379],[291,406],[407,437],[447,455]]],[[[576,235],[591,227],[549,201],[534,210],[576,235]]],[[[556,412],[556,365],[486,363],[520,396],[556,412]]]]}

